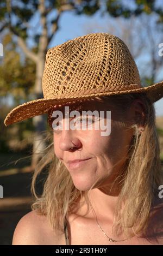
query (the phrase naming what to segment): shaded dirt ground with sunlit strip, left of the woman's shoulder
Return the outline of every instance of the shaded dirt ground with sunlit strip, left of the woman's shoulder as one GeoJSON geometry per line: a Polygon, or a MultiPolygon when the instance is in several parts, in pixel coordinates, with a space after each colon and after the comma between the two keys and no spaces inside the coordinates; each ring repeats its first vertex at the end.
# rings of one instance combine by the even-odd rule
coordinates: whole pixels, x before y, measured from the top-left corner
{"type": "MultiPolygon", "coordinates": [[[[3,186],[3,198],[0,198],[0,245],[11,245],[18,221],[31,211],[33,172],[21,172],[21,168],[29,165],[29,160],[22,159],[14,163],[24,156],[16,153],[0,154],[0,184],[3,186]]],[[[40,175],[39,178],[45,177],[40,175]]],[[[42,183],[36,184],[36,188],[37,194],[41,194],[42,183]]]]}

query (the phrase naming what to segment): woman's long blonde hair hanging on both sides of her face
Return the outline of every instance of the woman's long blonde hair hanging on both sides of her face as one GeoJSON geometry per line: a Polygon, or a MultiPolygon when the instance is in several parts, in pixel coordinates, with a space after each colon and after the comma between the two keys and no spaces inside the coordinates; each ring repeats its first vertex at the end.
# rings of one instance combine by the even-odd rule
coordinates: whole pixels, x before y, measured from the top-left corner
{"type": "MultiPolygon", "coordinates": [[[[129,147],[124,171],[116,178],[116,181],[120,183],[121,192],[118,196],[112,228],[115,229],[115,234],[123,233],[126,237],[145,234],[153,198],[162,181],[154,105],[145,93],[101,98],[109,101],[109,103],[113,102],[116,109],[124,115],[126,115],[129,106],[136,98],[141,99],[145,107],[145,129],[141,136],[138,129],[139,123],[135,122],[129,127],[129,129],[134,129],[135,132],[129,147]]],[[[120,123],[121,126],[126,127],[126,123],[120,123]]],[[[82,206],[80,199],[84,198],[87,204],[87,212],[89,211],[89,191],[80,191],[74,186],[67,168],[54,154],[52,133],[52,131],[47,133],[47,138],[52,139],[51,144],[46,148],[46,153],[34,171],[32,193],[36,200],[32,209],[41,215],[46,215],[55,231],[61,231],[62,233],[64,232],[65,219],[68,218],[70,213],[76,212],[82,206]],[[35,191],[36,179],[44,168],[47,169],[48,175],[42,195],[37,195],[35,191]]]]}

